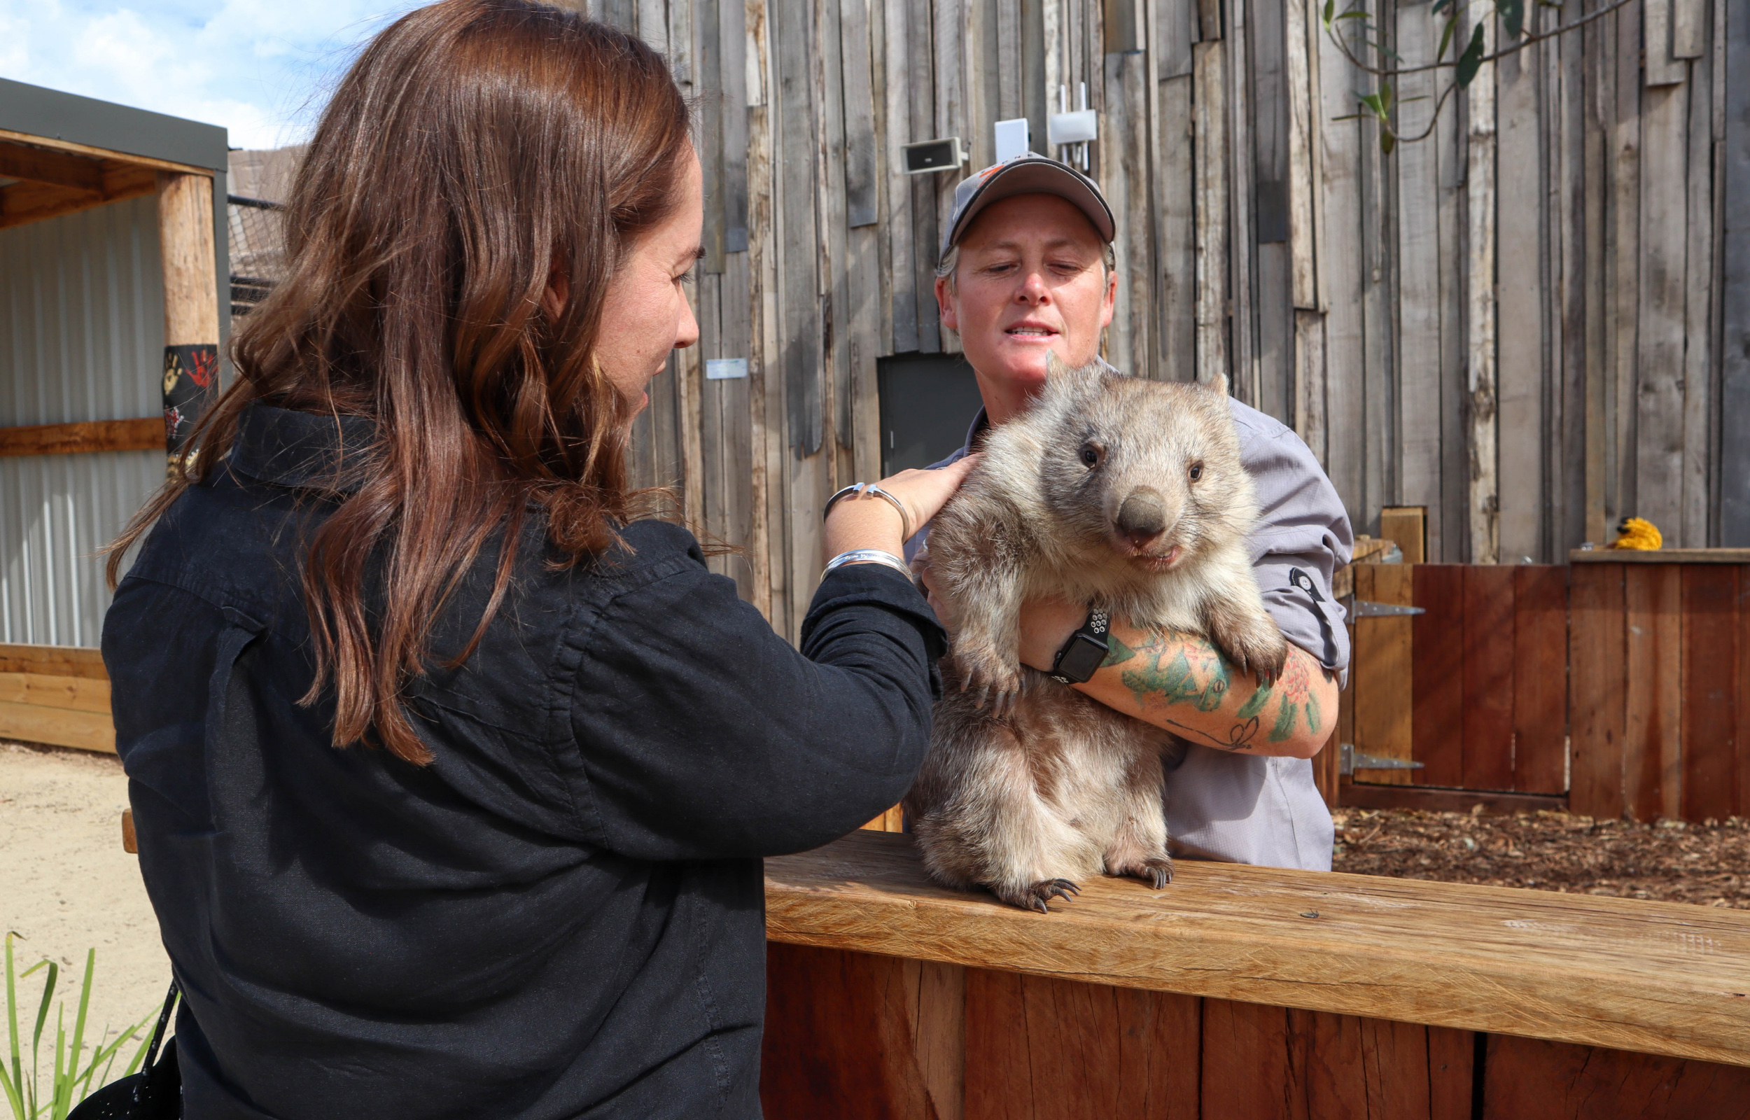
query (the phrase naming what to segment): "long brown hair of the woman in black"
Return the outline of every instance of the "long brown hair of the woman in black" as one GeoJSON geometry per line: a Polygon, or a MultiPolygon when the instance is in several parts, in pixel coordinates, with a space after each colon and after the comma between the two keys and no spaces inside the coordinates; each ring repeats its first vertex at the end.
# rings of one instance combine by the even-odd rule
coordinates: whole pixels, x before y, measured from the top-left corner
{"type": "Polygon", "coordinates": [[[646,511],[626,480],[632,406],[593,348],[609,278],[677,205],[688,126],[663,60],[574,12],[443,0],[382,32],[292,184],[289,276],[233,338],[238,376],[198,452],[110,546],[110,584],[122,551],[219,467],[250,402],[374,420],[376,443],[346,464],[355,490],[336,486],[310,536],[303,702],[331,681],[334,746],[430,761],[402,688],[488,539],[502,534],[497,581],[458,662],[502,602],[530,504],[572,562],[646,511]],[[542,306],[555,278],[556,315],[542,306]],[[371,620],[368,570],[383,604],[371,620]]]}

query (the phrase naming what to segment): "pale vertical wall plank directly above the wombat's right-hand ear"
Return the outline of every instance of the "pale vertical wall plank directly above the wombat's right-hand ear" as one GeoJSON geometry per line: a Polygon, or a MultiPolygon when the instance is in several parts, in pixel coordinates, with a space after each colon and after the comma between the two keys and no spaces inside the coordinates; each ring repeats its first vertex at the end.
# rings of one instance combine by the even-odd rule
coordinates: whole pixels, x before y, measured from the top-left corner
{"type": "Polygon", "coordinates": [[[1199,42],[1192,54],[1197,192],[1197,380],[1232,376],[1228,366],[1227,46],[1199,42]]]}

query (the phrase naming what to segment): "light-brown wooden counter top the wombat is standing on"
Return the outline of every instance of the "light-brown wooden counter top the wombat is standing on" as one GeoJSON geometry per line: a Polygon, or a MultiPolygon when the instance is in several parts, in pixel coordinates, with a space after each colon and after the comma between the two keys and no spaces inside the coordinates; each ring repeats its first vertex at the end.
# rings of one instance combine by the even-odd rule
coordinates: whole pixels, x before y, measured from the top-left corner
{"type": "Polygon", "coordinates": [[[1745,912],[1186,859],[1041,915],[875,831],[765,866],[774,942],[1750,1066],[1745,912]]]}

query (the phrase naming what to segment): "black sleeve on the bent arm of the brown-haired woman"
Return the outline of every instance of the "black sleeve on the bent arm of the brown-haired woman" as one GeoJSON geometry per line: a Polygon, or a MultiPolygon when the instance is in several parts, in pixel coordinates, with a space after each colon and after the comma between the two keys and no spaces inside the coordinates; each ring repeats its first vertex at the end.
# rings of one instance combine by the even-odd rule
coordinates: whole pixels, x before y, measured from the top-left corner
{"type": "Polygon", "coordinates": [[[578,810],[637,859],[805,850],[894,805],[929,747],[947,644],[880,565],[821,581],[802,649],[702,565],[616,595],[581,640],[578,810]]]}

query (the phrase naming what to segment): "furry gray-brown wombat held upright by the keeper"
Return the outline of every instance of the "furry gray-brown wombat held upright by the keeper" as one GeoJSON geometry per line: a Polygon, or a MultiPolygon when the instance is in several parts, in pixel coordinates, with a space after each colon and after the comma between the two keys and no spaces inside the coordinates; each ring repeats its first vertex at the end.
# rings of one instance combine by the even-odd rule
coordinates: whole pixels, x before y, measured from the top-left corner
{"type": "Polygon", "coordinates": [[[1052,359],[1040,397],[990,432],[929,532],[931,572],[959,611],[905,798],[931,875],[1040,912],[1101,870],[1171,882],[1160,756],[1174,737],[1024,667],[1017,611],[1057,595],[1202,634],[1270,681],[1288,644],[1246,553],[1256,516],[1225,380],[1052,359]]]}

